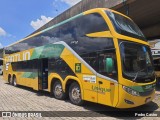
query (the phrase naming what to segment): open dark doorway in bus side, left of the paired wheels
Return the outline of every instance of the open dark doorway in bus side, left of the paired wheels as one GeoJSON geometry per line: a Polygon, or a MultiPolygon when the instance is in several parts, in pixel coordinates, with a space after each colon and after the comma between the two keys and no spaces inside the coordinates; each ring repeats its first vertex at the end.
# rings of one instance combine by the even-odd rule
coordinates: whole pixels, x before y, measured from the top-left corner
{"type": "Polygon", "coordinates": [[[48,88],[48,59],[39,60],[38,65],[38,89],[43,90],[48,88]]]}

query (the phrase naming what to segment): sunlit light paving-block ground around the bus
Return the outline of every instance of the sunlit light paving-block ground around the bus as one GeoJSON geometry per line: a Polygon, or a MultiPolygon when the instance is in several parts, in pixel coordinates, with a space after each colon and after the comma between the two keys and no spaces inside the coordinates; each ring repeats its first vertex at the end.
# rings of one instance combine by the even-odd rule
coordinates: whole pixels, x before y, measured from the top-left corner
{"type": "MultiPolygon", "coordinates": [[[[143,105],[137,108],[128,109],[126,111],[160,111],[160,94],[157,92],[156,97],[153,102],[143,105]]],[[[118,117],[110,113],[101,113],[99,111],[117,111],[115,108],[89,103],[86,102],[83,106],[76,106],[69,102],[69,100],[61,101],[50,97],[48,92],[37,92],[27,87],[14,87],[6,83],[2,77],[0,77],[0,111],[84,111],[90,114],[102,115],[102,117],[95,117],[94,119],[117,119],[118,117]],[[95,112],[98,111],[98,112],[95,112]]],[[[127,114],[126,111],[124,114],[127,114]]],[[[86,112],[86,113],[87,113],[86,112]]],[[[67,114],[64,112],[60,117],[45,117],[41,119],[77,119],[74,114],[79,114],[78,112],[68,112],[71,117],[63,117],[67,114]]],[[[55,113],[56,114],[56,113],[55,113]]],[[[58,114],[58,113],[57,113],[58,114]]],[[[58,116],[58,115],[57,115],[58,116]]],[[[82,115],[83,116],[83,115],[82,115]]],[[[94,115],[93,115],[94,116],[94,115]]],[[[143,119],[150,119],[150,117],[141,117],[143,119]]],[[[1,119],[1,118],[0,118],[1,119]]],[[[11,119],[11,118],[3,118],[11,119]]],[[[12,119],[21,119],[18,117],[12,119]]],[[[24,119],[24,118],[23,118],[24,119]]],[[[28,118],[25,118],[28,119],[28,118]]],[[[29,118],[31,119],[31,118],[29,118]]],[[[35,119],[35,118],[32,118],[35,119]]],[[[39,119],[39,118],[37,118],[39,119]]],[[[92,119],[91,117],[79,117],[78,119],[92,119]]],[[[153,119],[158,119],[154,117],[153,119]]]]}

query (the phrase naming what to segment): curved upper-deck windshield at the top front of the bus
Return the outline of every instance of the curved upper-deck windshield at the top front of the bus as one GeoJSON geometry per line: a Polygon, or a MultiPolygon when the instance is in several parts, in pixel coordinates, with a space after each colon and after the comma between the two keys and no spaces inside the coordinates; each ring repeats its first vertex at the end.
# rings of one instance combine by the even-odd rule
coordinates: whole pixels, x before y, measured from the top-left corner
{"type": "Polygon", "coordinates": [[[127,17],[124,17],[122,15],[113,13],[111,11],[106,12],[109,16],[110,20],[112,21],[112,24],[119,34],[138,38],[145,40],[145,37],[139,27],[130,19],[127,17]]]}

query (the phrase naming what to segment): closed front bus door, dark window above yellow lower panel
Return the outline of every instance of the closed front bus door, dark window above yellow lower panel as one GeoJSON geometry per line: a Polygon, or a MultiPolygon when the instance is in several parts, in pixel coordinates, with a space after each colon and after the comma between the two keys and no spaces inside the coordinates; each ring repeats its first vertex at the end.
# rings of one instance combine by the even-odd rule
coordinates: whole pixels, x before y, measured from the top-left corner
{"type": "Polygon", "coordinates": [[[118,73],[115,52],[113,50],[99,53],[98,103],[116,106],[118,103],[118,73]]]}

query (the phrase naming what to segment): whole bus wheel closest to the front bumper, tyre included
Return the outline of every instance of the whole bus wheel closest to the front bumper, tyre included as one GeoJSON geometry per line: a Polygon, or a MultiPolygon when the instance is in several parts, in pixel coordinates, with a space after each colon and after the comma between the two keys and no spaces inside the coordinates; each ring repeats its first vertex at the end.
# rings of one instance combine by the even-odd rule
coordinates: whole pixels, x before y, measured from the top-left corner
{"type": "Polygon", "coordinates": [[[69,99],[75,105],[83,104],[83,100],[81,98],[81,89],[77,82],[73,82],[69,87],[69,99]]]}

